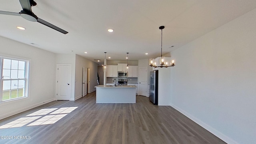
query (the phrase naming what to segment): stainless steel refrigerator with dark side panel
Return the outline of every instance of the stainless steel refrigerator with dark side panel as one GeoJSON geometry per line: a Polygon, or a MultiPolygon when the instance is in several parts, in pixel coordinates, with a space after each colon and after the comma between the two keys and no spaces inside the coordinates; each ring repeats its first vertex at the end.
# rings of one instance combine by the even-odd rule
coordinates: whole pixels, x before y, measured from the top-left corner
{"type": "Polygon", "coordinates": [[[153,104],[158,105],[158,70],[150,72],[150,95],[153,104]]]}

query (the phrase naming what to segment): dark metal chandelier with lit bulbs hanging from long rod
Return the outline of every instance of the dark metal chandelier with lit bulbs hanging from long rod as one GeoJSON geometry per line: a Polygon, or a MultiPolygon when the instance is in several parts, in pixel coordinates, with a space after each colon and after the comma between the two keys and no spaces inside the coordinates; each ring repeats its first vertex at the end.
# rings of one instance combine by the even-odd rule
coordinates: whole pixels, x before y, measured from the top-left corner
{"type": "Polygon", "coordinates": [[[149,60],[149,65],[154,67],[154,68],[162,68],[162,67],[169,67],[169,66],[175,66],[175,61],[174,60],[167,60],[165,59],[164,56],[162,56],[162,41],[163,41],[163,29],[164,29],[164,26],[160,26],[159,29],[161,30],[161,59],[160,59],[160,62],[157,64],[157,62],[154,62],[154,58],[150,58],[149,60]]]}

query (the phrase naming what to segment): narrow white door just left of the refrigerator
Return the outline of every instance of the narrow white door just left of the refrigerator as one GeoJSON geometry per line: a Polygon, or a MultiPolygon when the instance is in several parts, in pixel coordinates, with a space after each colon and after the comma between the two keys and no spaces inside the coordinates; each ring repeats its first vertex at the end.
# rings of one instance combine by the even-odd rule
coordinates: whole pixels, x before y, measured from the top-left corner
{"type": "Polygon", "coordinates": [[[140,71],[139,71],[139,95],[148,96],[146,68],[140,68],[140,71]]]}

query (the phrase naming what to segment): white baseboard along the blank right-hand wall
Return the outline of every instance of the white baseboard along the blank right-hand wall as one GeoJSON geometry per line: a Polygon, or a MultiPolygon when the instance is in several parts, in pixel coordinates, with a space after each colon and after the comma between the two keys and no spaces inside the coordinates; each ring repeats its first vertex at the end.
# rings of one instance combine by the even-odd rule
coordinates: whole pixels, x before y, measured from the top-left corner
{"type": "Polygon", "coordinates": [[[206,130],[208,130],[209,132],[211,132],[212,134],[214,134],[215,136],[217,136],[218,138],[220,138],[221,140],[223,140],[224,142],[228,143],[228,144],[238,144],[238,142],[234,141],[232,138],[226,136],[225,134],[222,134],[221,132],[219,132],[218,130],[216,130],[215,128],[212,128],[211,126],[209,126],[208,124],[202,122],[201,120],[195,118],[194,116],[190,115],[188,112],[182,110],[181,108],[179,108],[178,106],[175,106],[174,104],[170,104],[170,106],[172,106],[173,108],[175,108],[176,110],[178,110],[180,113],[184,114],[186,117],[188,117],[190,120],[196,122],[197,124],[199,124],[200,126],[202,126],[203,128],[205,128],[206,130]]]}

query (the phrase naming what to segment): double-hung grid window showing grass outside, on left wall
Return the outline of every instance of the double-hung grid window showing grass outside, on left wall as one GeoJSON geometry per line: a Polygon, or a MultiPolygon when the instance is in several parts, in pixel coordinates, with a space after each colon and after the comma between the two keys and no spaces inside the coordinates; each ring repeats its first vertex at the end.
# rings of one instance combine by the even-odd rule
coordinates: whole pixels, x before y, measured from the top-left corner
{"type": "Polygon", "coordinates": [[[27,97],[28,61],[0,57],[0,102],[27,97]]]}

